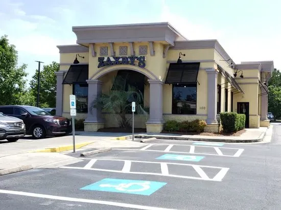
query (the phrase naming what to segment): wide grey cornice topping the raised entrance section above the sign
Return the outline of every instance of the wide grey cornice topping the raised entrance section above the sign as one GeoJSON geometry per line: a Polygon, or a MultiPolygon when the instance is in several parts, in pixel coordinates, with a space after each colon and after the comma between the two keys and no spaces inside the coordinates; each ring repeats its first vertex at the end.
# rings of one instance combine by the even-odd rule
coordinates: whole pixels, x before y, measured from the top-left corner
{"type": "Polygon", "coordinates": [[[170,23],[141,23],[119,25],[88,25],[73,27],[77,44],[103,42],[163,41],[174,45],[174,41],[187,40],[170,23]]]}

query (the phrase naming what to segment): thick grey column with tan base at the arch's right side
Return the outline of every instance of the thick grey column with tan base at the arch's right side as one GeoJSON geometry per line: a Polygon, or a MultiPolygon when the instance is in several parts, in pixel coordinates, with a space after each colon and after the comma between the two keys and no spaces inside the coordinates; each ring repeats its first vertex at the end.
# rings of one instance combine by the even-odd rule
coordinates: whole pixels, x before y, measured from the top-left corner
{"type": "Polygon", "coordinates": [[[147,133],[161,133],[163,130],[163,82],[149,82],[149,120],[146,123],[147,133]]]}

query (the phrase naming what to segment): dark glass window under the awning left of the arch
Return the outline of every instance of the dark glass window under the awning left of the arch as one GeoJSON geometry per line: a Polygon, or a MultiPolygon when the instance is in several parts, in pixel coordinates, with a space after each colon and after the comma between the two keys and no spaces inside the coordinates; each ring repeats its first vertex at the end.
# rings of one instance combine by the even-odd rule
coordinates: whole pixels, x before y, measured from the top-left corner
{"type": "Polygon", "coordinates": [[[74,84],[73,94],[76,96],[76,111],[88,112],[88,84],[74,84]]]}

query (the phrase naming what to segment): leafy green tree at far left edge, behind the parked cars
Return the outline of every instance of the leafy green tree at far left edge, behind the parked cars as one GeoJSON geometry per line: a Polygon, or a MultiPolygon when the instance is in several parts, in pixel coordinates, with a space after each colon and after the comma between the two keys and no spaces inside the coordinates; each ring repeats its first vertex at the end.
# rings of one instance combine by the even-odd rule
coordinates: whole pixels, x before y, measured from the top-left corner
{"type": "Polygon", "coordinates": [[[17,67],[17,51],[7,37],[0,38],[0,105],[21,104],[28,75],[25,72],[27,65],[17,67]]]}

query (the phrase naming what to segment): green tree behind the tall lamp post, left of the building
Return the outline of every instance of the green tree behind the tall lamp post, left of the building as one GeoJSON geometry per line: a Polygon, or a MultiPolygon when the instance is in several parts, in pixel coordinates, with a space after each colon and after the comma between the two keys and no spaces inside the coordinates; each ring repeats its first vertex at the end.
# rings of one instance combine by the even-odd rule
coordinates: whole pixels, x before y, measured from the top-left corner
{"type": "MultiPolygon", "coordinates": [[[[52,64],[44,65],[40,71],[40,84],[39,84],[39,107],[56,107],[56,90],[57,90],[57,77],[55,72],[59,71],[59,64],[52,62],[52,64]]],[[[30,88],[32,95],[37,98],[37,78],[38,69],[32,76],[30,81],[30,88]]]]}

